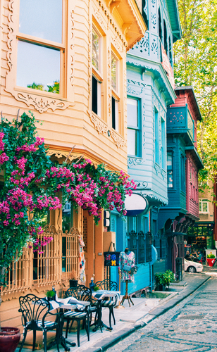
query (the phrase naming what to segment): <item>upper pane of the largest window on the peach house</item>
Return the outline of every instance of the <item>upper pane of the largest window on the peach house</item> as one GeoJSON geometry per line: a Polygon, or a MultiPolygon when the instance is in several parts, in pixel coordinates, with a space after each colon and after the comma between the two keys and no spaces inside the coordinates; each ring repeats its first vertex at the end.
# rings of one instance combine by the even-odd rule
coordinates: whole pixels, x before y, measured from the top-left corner
{"type": "Polygon", "coordinates": [[[19,32],[62,42],[62,0],[20,0],[19,32]]]}

